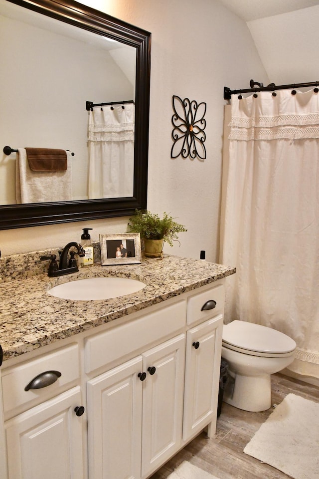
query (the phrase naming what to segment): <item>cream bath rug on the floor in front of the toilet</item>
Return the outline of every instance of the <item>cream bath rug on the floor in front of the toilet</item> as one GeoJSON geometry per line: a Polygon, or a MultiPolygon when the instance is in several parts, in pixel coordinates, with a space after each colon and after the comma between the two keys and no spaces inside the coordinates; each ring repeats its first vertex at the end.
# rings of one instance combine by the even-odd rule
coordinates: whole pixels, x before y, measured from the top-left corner
{"type": "Polygon", "coordinates": [[[294,479],[319,479],[319,403],[288,394],[244,453],[294,479]]]}

